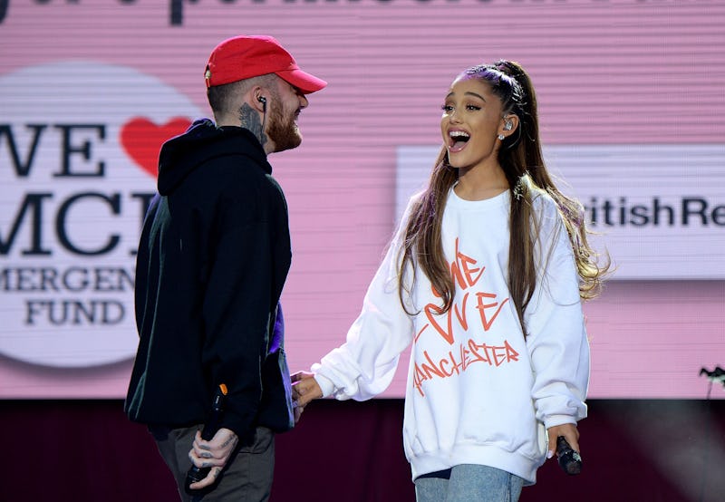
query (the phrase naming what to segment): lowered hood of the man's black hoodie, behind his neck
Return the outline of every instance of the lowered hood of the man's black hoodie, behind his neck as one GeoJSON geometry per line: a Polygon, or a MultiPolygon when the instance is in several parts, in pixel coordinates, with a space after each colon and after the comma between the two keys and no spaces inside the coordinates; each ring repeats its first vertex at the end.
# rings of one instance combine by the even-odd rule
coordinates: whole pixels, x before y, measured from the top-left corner
{"type": "Polygon", "coordinates": [[[272,173],[265,150],[251,131],[242,127],[218,128],[208,119],[194,121],[186,132],[161,147],[159,193],[164,196],[172,193],[191,171],[209,159],[235,155],[254,159],[267,174],[272,173]]]}

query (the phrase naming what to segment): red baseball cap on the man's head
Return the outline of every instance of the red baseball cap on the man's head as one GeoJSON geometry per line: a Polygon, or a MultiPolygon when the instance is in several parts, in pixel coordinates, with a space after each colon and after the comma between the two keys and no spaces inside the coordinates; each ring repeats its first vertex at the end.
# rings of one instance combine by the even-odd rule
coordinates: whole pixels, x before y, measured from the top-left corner
{"type": "Polygon", "coordinates": [[[327,85],[324,80],[300,70],[292,54],[273,37],[265,35],[235,36],[219,43],[209,56],[204,78],[207,87],[213,87],[267,73],[275,73],[304,94],[327,85]]]}

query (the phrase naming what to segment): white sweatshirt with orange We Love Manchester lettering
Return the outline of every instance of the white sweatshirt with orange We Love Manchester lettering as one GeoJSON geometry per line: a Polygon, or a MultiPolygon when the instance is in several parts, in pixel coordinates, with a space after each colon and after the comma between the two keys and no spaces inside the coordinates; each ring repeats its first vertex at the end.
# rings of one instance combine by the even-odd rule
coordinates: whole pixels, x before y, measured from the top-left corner
{"type": "Polygon", "coordinates": [[[412,343],[403,446],[413,479],[478,464],[533,484],[546,459],[546,429],[586,416],[589,345],[572,247],[554,200],[538,195],[534,207],[540,274],[526,342],[507,288],[509,193],[468,201],[451,189],[442,227],[456,283],[449,312],[436,314],[440,298],[420,269],[409,297],[418,314],[401,307],[409,204],[346,342],[313,366],[324,396],[363,401],[390,385],[412,343]]]}

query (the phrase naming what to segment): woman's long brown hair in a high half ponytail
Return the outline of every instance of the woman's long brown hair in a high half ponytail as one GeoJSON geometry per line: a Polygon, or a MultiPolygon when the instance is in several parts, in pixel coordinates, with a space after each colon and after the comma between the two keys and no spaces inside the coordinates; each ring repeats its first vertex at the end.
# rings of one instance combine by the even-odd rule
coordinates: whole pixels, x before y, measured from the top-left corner
{"type": "MultiPolygon", "coordinates": [[[[609,263],[599,265],[598,255],[589,246],[584,210],[574,198],[562,194],[546,170],[538,131],[536,93],[527,72],[514,62],[498,61],[469,68],[459,78],[476,78],[487,82],[503,104],[504,115],[518,117],[514,134],[502,141],[498,162],[506,174],[510,191],[508,289],[517,310],[524,334],[527,334],[524,313],[536,289],[536,260],[538,222],[532,202],[537,193],[546,192],[554,198],[574,249],[579,275],[579,295],[593,298],[599,293],[609,263]]],[[[404,295],[410,294],[416,280],[416,264],[430,279],[440,295],[441,313],[448,312],[453,303],[455,285],[443,254],[441,227],[443,210],[450,188],[458,179],[458,169],[448,164],[448,152],[443,146],[436,159],[428,187],[414,201],[411,216],[401,246],[399,294],[403,308],[412,314],[404,295]],[[407,271],[412,280],[407,282],[407,271]]]]}

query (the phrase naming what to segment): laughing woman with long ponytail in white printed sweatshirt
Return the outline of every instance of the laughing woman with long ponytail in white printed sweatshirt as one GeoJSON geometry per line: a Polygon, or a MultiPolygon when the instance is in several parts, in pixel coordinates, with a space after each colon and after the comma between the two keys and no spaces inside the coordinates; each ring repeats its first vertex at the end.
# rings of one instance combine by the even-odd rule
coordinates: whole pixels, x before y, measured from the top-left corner
{"type": "Polygon", "coordinates": [[[372,398],[412,343],[403,442],[417,499],[517,500],[557,437],[579,450],[581,300],[608,265],[581,205],[546,171],[520,65],[459,74],[440,129],[428,188],[411,198],[346,343],[293,376],[295,398],[299,410],[372,398]]]}

